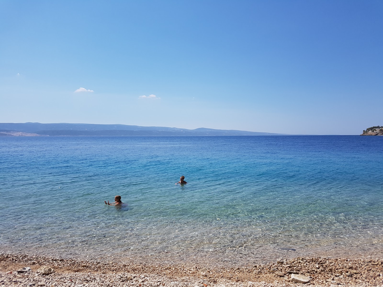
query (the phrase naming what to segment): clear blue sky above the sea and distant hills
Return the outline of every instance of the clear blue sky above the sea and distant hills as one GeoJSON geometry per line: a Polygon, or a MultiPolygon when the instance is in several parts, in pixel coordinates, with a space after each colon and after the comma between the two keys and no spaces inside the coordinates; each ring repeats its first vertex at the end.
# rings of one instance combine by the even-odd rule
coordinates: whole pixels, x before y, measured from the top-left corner
{"type": "Polygon", "coordinates": [[[3,0],[0,122],[360,134],[382,31],[380,0],[3,0]]]}

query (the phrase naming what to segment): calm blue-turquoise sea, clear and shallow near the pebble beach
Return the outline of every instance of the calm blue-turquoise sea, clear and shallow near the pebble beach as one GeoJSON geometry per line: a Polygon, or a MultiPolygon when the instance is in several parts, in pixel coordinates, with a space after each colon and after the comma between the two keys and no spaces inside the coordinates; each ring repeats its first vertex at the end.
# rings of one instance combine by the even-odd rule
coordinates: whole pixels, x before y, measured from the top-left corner
{"type": "Polygon", "coordinates": [[[174,264],[383,258],[382,175],[379,136],[3,136],[0,251],[174,264]],[[116,195],[123,205],[105,205],[116,195]]]}

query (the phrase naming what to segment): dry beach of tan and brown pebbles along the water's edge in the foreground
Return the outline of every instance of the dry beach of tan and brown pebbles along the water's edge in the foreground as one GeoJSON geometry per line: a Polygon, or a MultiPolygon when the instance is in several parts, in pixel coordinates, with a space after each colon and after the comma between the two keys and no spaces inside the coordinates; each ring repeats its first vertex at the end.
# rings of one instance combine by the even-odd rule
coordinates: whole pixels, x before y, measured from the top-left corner
{"type": "Polygon", "coordinates": [[[299,278],[312,286],[383,286],[383,259],[300,257],[252,266],[206,267],[0,254],[0,286],[286,287],[306,282],[299,278]]]}

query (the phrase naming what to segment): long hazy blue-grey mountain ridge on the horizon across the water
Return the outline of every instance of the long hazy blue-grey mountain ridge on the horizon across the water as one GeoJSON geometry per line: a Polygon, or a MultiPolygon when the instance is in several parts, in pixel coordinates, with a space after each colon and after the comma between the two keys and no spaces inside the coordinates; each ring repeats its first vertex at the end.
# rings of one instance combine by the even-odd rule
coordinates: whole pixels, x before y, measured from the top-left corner
{"type": "Polygon", "coordinates": [[[245,130],[217,130],[200,127],[198,129],[179,129],[177,127],[141,127],[122,124],[41,124],[39,122],[0,123],[0,135],[38,136],[38,135],[93,135],[93,136],[127,136],[127,135],[287,135],[270,132],[248,132],[245,130]]]}

